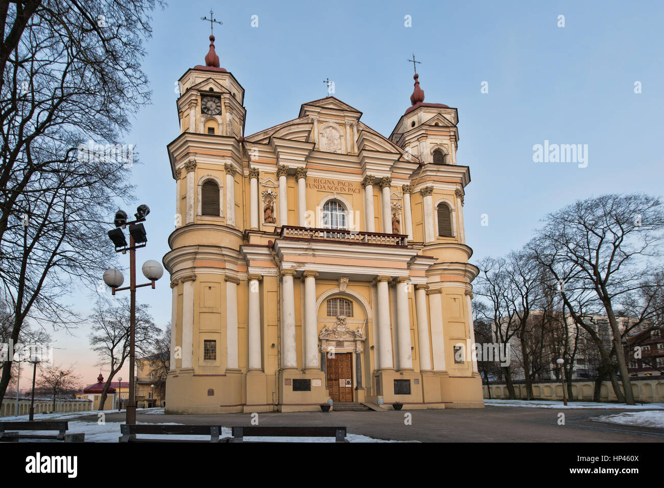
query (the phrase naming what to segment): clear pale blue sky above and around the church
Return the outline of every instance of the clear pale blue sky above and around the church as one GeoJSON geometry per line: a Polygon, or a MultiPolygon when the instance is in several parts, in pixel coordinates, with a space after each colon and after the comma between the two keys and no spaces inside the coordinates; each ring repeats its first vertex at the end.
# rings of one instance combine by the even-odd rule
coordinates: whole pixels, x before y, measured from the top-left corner
{"type": "MultiPolygon", "coordinates": [[[[161,260],[173,230],[175,182],[166,145],[179,133],[175,82],[205,64],[210,7],[220,64],[245,91],[247,135],[297,116],[301,103],[335,96],[388,136],[410,107],[414,52],[427,102],[459,111],[458,164],[470,167],[465,235],[471,261],[517,249],[539,219],[576,199],[607,192],[661,194],[664,107],[664,4],[660,2],[221,2],[171,1],[153,15],[143,65],[153,104],[135,118],[125,143],[137,203],[151,214],[140,265],[161,260]],[[258,28],[251,27],[258,15],[258,28]],[[404,17],[412,27],[404,27],[404,17]],[[564,15],[565,27],[557,27],[564,15]],[[487,82],[489,93],[481,93],[487,82]],[[634,93],[641,82],[642,93],[634,93]],[[544,140],[588,145],[588,166],[533,162],[544,140]],[[481,225],[488,214],[489,225],[481,225]]],[[[133,206],[125,210],[135,212],[133,206]]],[[[127,258],[123,258],[127,259],[127,258]]],[[[123,263],[125,266],[127,263],[123,263]]],[[[141,288],[157,324],[170,320],[168,277],[141,288]]],[[[77,300],[80,310],[89,306],[77,300]]],[[[98,374],[89,328],[55,335],[56,362],[72,363],[84,383],[98,374]],[[58,357],[59,356],[59,357],[58,357]]],[[[126,379],[128,373],[123,371],[126,379]]]]}

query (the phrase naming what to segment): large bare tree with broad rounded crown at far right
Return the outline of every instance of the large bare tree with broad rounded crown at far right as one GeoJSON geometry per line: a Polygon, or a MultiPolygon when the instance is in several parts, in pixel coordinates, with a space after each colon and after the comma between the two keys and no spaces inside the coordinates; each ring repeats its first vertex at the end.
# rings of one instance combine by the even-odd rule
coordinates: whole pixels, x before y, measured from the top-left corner
{"type": "MultiPolygon", "coordinates": [[[[664,216],[658,198],[642,194],[604,195],[578,201],[544,219],[544,228],[529,245],[539,263],[560,283],[564,304],[610,363],[614,351],[624,398],[634,404],[622,331],[616,306],[643,288],[649,259],[659,256],[664,216]],[[585,316],[604,315],[612,331],[612,351],[606,351],[585,316]]],[[[614,390],[621,398],[614,379],[614,390]]]]}

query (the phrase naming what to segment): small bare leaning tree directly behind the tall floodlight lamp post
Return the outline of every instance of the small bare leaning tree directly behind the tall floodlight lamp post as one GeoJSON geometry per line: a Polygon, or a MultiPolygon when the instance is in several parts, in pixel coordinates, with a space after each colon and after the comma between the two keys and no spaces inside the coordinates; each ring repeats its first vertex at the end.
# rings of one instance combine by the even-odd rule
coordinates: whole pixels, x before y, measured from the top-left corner
{"type": "MultiPolygon", "coordinates": [[[[148,312],[149,305],[137,304],[135,323],[135,347],[139,353],[148,353],[161,332],[148,312]]],[[[104,383],[99,409],[104,410],[108,387],[118,371],[129,357],[129,300],[120,300],[118,304],[100,300],[90,321],[94,332],[89,335],[92,350],[100,357],[99,365],[108,366],[110,373],[104,383]]]]}

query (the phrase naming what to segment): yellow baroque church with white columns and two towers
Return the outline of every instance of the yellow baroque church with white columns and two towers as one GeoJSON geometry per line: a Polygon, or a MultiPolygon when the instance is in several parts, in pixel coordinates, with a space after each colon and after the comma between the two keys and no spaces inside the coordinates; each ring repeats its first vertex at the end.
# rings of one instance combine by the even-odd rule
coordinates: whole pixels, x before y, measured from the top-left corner
{"type": "Polygon", "coordinates": [[[167,146],[168,412],[483,406],[457,109],[414,80],[389,137],[333,96],[244,135],[244,89],[210,36],[167,146]]]}

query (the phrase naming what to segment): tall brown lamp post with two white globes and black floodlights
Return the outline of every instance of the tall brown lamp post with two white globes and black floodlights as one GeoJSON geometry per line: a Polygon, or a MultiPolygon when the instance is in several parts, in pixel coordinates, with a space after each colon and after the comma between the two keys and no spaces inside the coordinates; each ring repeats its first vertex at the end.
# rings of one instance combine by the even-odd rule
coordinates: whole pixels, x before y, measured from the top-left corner
{"type": "Polygon", "coordinates": [[[129,404],[127,405],[127,425],[136,423],[136,377],[135,377],[135,332],[136,332],[136,288],[141,286],[152,286],[155,288],[155,281],[161,278],[163,268],[157,261],[145,261],[143,264],[143,275],[149,279],[149,283],[136,284],[136,249],[147,245],[147,235],[145,227],[141,222],[150,213],[147,205],[139,205],[134,216],[135,220],[127,222],[127,214],[122,210],[116,212],[114,219],[115,229],[108,231],[108,237],[113,241],[116,247],[116,253],[125,254],[129,251],[129,286],[118,288],[124,281],[124,276],[117,269],[107,269],[104,272],[104,282],[111,287],[112,293],[116,291],[129,290],[129,404]],[[129,245],[125,239],[122,229],[129,225],[129,245]],[[120,228],[122,227],[122,229],[120,228]]]}

